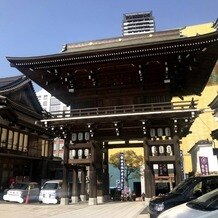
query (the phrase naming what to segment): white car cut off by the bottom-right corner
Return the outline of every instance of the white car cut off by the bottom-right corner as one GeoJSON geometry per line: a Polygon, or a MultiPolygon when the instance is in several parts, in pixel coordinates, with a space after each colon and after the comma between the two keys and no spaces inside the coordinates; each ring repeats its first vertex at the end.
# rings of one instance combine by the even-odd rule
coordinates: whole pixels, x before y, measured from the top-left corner
{"type": "Polygon", "coordinates": [[[218,217],[218,188],[202,195],[201,197],[189,201],[161,213],[158,218],[217,218],[218,217]]]}

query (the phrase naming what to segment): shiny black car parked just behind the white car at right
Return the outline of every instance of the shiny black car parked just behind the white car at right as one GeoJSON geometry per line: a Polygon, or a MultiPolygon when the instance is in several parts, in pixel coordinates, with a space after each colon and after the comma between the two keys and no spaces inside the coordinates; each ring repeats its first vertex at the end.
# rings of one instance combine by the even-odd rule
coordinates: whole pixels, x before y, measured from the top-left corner
{"type": "Polygon", "coordinates": [[[218,175],[190,177],[168,194],[152,198],[149,202],[150,217],[155,218],[161,212],[196,199],[217,187],[218,175]]]}

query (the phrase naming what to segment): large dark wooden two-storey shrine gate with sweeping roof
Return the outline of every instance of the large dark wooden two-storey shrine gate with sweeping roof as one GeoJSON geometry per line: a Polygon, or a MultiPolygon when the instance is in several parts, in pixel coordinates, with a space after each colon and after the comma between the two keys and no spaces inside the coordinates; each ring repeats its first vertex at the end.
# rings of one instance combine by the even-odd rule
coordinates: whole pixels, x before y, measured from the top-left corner
{"type": "Polygon", "coordinates": [[[65,191],[68,172],[73,172],[73,181],[81,172],[79,193],[78,184],[72,185],[73,202],[86,194],[86,166],[89,204],[109,194],[112,147],[144,148],[146,197],[155,194],[157,179],[181,181],[179,141],[202,112],[197,101],[183,97],[201,95],[217,61],[218,31],[215,25],[211,29],[191,37],[184,29],[174,29],[66,44],[58,54],[7,57],[12,67],[71,106],[41,122],[65,139],[65,191]],[[173,102],[173,97],[181,101],[173,102]],[[125,144],[109,143],[120,140],[125,144]],[[154,164],[161,166],[159,178],[154,164]],[[167,164],[173,165],[172,173],[164,169],[167,164]]]}

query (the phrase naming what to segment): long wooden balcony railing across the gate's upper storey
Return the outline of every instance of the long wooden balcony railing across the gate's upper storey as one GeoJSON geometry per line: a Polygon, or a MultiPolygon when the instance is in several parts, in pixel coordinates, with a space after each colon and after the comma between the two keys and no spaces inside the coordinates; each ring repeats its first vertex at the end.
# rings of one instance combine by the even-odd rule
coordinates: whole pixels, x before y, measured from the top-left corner
{"type": "Polygon", "coordinates": [[[140,112],[154,112],[154,111],[175,111],[195,109],[196,101],[181,101],[181,102],[161,102],[150,104],[135,104],[135,105],[121,105],[110,107],[96,107],[96,108],[82,108],[65,111],[55,111],[51,115],[53,118],[64,117],[81,117],[81,116],[98,116],[109,114],[127,114],[140,112]]]}

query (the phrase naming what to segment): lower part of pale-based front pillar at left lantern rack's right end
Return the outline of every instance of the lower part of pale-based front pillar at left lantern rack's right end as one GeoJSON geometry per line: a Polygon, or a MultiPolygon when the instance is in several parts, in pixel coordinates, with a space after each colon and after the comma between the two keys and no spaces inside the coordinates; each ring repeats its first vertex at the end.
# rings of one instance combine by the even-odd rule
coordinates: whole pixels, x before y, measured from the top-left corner
{"type": "Polygon", "coordinates": [[[97,174],[94,165],[90,166],[89,172],[89,205],[97,204],[97,174]]]}

